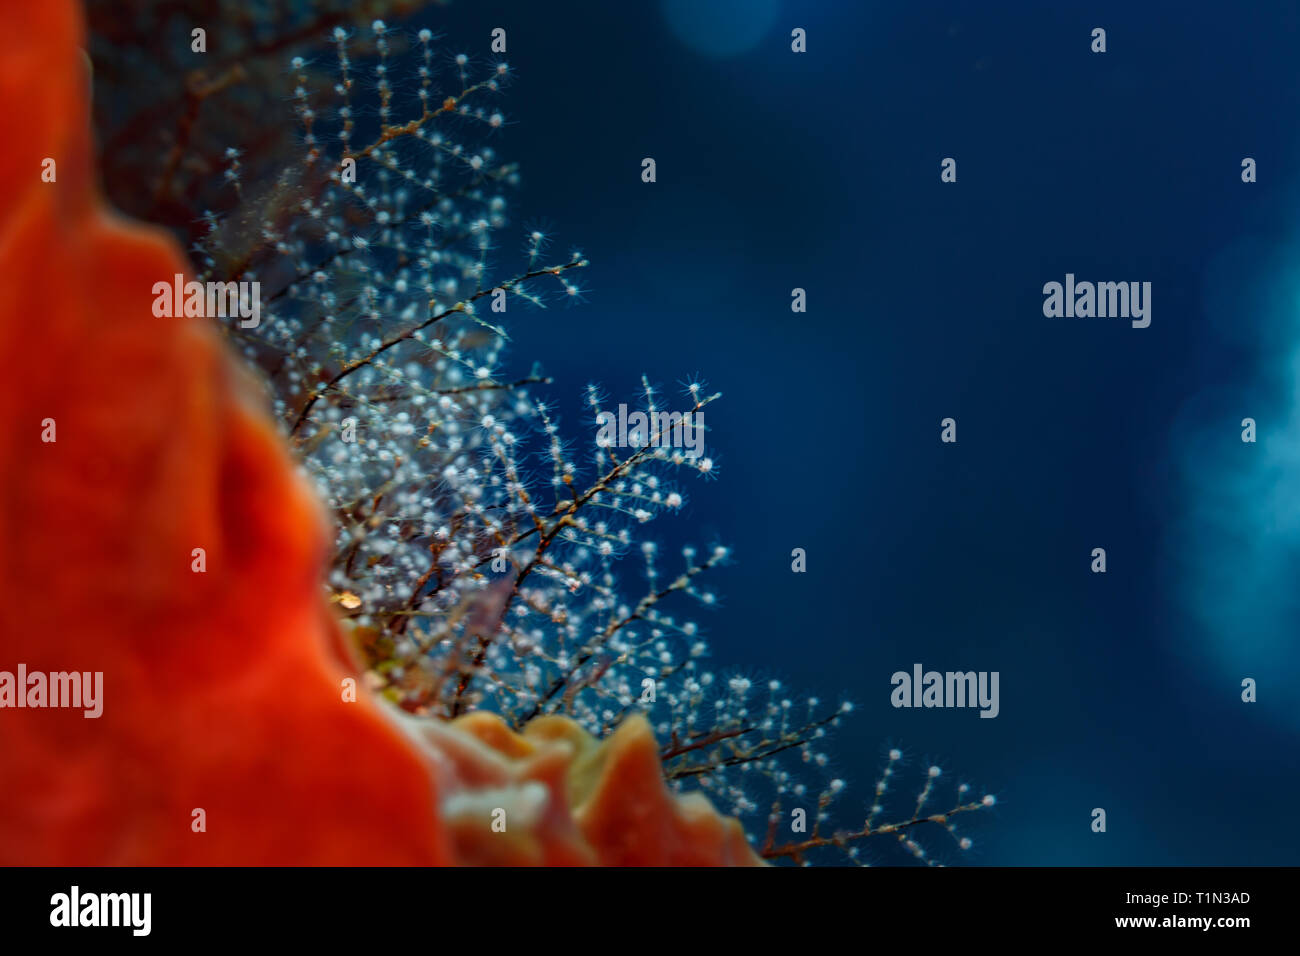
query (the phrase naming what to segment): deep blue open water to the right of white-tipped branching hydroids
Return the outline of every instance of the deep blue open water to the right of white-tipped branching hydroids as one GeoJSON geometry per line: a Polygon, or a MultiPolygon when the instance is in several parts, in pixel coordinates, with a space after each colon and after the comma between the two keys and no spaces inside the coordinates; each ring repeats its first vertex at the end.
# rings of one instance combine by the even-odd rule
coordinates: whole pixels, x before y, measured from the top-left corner
{"type": "Polygon", "coordinates": [[[507,29],[516,220],[592,259],[511,323],[568,431],[589,380],[724,393],[656,523],[736,549],[714,663],[854,701],[846,809],[885,744],[996,792],[970,862],[1296,862],[1296,4],[699,5],[428,22],[507,29]],[[1152,282],[1150,326],[1044,317],[1067,272],[1152,282]],[[1000,715],[892,708],[915,662],[998,671],[1000,715]]]}

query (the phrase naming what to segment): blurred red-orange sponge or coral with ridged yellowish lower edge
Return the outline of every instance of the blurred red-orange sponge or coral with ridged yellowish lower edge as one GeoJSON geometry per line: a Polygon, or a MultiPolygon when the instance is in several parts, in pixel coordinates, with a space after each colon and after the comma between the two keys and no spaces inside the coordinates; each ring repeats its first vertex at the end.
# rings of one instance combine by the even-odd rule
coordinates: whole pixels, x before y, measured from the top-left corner
{"type": "Polygon", "coordinates": [[[670,795],[644,721],[598,744],[344,700],[318,509],[213,329],[152,313],[186,263],[100,203],[75,5],[26,16],[0,35],[0,670],[103,671],[104,709],[0,709],[0,862],[755,862],[670,795]]]}

